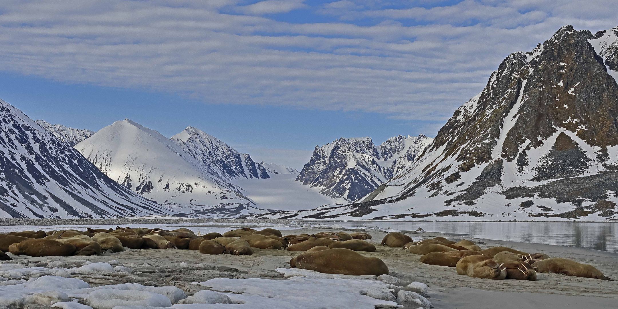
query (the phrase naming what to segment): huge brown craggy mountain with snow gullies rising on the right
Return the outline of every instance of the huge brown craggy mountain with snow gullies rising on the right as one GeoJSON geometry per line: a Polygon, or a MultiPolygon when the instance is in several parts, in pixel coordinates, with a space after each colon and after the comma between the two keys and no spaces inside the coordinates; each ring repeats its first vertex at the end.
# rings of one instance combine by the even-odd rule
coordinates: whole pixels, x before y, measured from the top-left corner
{"type": "Polygon", "coordinates": [[[510,54],[428,150],[361,203],[261,218],[618,219],[618,27],[510,54]]]}

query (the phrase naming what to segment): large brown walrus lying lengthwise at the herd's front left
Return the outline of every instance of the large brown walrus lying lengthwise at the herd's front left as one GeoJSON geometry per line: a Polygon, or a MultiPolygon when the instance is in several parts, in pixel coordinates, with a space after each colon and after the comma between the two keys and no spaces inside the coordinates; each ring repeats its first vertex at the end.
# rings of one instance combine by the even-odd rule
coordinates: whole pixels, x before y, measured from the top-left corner
{"type": "Polygon", "coordinates": [[[29,238],[23,242],[13,243],[9,252],[14,255],[29,256],[72,256],[77,251],[72,243],[61,243],[53,239],[29,238]]]}

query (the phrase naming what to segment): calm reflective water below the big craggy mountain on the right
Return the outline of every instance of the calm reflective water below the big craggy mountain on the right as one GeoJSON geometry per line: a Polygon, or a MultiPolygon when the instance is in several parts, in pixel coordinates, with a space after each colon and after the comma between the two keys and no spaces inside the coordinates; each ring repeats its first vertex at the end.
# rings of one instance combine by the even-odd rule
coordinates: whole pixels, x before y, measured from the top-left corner
{"type": "Polygon", "coordinates": [[[347,221],[342,226],[379,226],[414,231],[465,234],[470,237],[547,243],[618,252],[618,222],[401,222],[347,221]]]}

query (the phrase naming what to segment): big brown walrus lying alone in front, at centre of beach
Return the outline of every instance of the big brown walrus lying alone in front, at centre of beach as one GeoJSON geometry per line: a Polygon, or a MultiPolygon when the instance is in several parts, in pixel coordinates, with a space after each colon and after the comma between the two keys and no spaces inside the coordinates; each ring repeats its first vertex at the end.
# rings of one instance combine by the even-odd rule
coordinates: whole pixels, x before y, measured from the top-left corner
{"type": "Polygon", "coordinates": [[[380,276],[389,273],[388,267],[379,258],[369,258],[346,248],[301,253],[290,260],[290,268],[353,276],[380,276]]]}

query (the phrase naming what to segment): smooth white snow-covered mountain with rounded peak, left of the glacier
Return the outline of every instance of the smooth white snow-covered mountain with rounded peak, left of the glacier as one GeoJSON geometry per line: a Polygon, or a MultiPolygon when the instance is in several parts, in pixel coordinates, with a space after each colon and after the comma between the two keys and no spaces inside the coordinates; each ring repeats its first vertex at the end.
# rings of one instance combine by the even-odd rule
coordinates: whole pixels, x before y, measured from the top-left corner
{"type": "Polygon", "coordinates": [[[263,212],[174,140],[129,119],[104,127],[75,148],[111,179],[174,213],[218,217],[263,212]]]}

